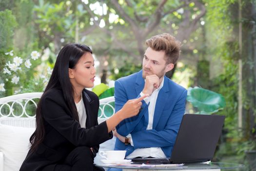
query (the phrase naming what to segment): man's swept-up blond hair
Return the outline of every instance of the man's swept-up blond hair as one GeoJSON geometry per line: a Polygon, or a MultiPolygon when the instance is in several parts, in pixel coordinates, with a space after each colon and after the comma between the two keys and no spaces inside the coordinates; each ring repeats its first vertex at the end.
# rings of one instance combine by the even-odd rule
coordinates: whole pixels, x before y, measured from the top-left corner
{"type": "Polygon", "coordinates": [[[146,40],[146,45],[155,51],[163,50],[167,64],[176,64],[180,55],[181,43],[168,33],[156,35],[146,40]]]}

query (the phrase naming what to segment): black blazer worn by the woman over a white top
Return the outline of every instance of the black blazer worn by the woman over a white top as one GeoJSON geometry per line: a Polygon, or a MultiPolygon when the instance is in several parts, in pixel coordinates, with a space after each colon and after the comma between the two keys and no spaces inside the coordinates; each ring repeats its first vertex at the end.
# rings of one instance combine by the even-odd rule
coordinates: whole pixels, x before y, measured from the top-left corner
{"type": "Polygon", "coordinates": [[[86,129],[73,118],[62,90],[51,89],[42,95],[45,137],[35,151],[29,150],[20,171],[40,171],[47,165],[52,165],[54,170],[55,164],[64,161],[79,146],[93,148],[96,156],[99,144],[113,137],[112,132],[108,133],[106,121],[98,125],[98,96],[84,89],[82,97],[87,115],[86,129]]]}

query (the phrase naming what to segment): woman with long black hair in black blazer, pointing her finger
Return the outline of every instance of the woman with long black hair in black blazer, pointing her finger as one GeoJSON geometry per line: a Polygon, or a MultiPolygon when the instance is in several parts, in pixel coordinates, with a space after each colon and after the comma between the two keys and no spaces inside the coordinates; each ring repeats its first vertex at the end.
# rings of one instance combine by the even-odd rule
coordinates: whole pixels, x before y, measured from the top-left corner
{"type": "Polygon", "coordinates": [[[128,101],[98,125],[98,97],[85,87],[94,86],[92,50],[67,44],[59,52],[53,73],[39,101],[37,127],[20,171],[95,171],[99,144],[113,137],[112,130],[138,114],[141,100],[128,101]]]}

